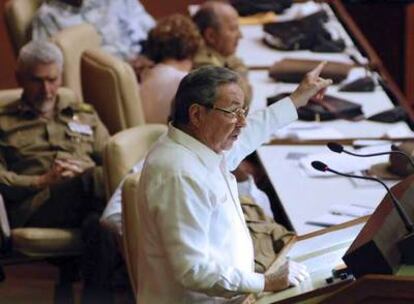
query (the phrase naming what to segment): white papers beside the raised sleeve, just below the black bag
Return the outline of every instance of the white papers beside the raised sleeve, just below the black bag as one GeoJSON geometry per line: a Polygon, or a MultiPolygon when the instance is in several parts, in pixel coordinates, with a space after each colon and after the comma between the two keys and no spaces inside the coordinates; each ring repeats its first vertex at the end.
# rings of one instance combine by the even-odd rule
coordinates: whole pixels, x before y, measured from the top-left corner
{"type": "Polygon", "coordinates": [[[277,138],[292,138],[297,140],[312,139],[341,139],[344,136],[332,127],[326,127],[318,122],[297,121],[275,133],[277,138]]]}

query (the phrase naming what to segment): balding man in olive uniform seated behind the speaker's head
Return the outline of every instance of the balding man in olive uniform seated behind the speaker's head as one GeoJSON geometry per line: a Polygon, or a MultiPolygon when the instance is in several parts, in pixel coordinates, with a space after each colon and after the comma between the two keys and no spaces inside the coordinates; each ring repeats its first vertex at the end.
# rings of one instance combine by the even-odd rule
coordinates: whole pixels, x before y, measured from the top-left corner
{"type": "Polygon", "coordinates": [[[242,89],[247,102],[251,99],[251,87],[247,80],[247,67],[236,54],[239,39],[242,37],[238,13],[228,3],[204,2],[193,20],[204,39],[204,46],[194,58],[194,68],[206,65],[225,67],[241,76],[242,89]]]}

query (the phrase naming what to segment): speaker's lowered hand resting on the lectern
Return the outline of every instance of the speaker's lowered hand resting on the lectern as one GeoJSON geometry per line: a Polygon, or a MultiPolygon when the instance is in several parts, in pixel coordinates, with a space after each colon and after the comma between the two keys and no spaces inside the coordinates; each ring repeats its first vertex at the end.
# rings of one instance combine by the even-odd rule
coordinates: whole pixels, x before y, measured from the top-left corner
{"type": "Polygon", "coordinates": [[[289,286],[297,286],[307,278],[309,273],[304,265],[286,261],[275,272],[265,276],[264,291],[279,291],[289,286]]]}

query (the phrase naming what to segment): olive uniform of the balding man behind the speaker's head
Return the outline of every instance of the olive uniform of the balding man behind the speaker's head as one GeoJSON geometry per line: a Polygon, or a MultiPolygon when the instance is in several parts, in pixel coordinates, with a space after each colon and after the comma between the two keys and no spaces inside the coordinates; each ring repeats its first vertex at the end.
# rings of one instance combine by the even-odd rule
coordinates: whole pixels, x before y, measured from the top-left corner
{"type": "Polygon", "coordinates": [[[242,79],[241,87],[246,96],[246,102],[247,104],[250,104],[252,99],[252,88],[247,79],[248,69],[240,58],[235,55],[225,57],[208,46],[202,46],[194,57],[193,68],[197,69],[208,65],[228,68],[237,72],[242,79]]]}

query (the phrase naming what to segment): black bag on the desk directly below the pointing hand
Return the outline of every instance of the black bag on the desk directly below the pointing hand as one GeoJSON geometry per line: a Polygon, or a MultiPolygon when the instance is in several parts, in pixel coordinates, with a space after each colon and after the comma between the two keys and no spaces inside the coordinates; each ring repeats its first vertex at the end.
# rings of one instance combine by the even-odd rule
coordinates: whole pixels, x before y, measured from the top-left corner
{"type": "MultiPolygon", "coordinates": [[[[289,96],[290,93],[281,93],[276,96],[268,97],[268,105],[289,96]]],[[[309,103],[298,109],[300,120],[305,121],[326,121],[334,119],[360,120],[363,118],[361,105],[338,98],[325,95],[322,101],[311,99],[309,103]]]]}

